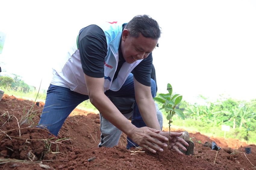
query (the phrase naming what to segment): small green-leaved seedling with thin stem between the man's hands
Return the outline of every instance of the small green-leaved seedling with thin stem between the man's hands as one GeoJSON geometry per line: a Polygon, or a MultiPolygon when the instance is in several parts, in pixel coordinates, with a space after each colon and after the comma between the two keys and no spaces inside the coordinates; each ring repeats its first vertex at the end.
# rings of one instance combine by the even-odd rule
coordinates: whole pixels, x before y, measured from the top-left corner
{"type": "MultiPolygon", "coordinates": [[[[172,96],[172,92],[173,92],[173,88],[170,85],[170,83],[167,84],[167,91],[169,93],[167,94],[159,94],[159,97],[155,97],[154,100],[161,103],[162,104],[162,108],[164,109],[167,113],[167,117],[166,119],[169,120],[169,137],[170,137],[170,133],[171,133],[171,123],[173,123],[172,121],[172,117],[174,116],[174,114],[177,114],[181,119],[185,120],[185,116],[183,114],[183,111],[181,111],[180,109],[175,108],[182,100],[182,96],[180,94],[175,94],[172,96]]],[[[169,139],[168,139],[168,146],[169,146],[169,139]]]]}

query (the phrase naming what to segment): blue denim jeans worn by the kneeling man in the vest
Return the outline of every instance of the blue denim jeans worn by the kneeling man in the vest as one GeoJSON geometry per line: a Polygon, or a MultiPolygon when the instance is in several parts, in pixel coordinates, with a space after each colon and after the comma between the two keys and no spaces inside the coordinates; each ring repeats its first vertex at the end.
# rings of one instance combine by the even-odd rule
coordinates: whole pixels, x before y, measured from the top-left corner
{"type": "MultiPolygon", "coordinates": [[[[151,79],[151,94],[152,97],[155,97],[156,93],[156,84],[153,79],[151,79]]],[[[116,96],[116,97],[127,97],[134,98],[134,83],[133,83],[133,74],[130,73],[127,77],[125,83],[118,91],[107,90],[105,92],[106,96],[116,96]]],[[[38,125],[45,126],[47,129],[55,136],[58,135],[61,126],[68,117],[68,115],[79,105],[81,102],[88,100],[89,96],[83,95],[71,91],[66,87],[60,87],[50,84],[47,90],[47,96],[45,100],[45,105],[40,116],[38,125]]],[[[142,117],[139,113],[139,108],[135,102],[133,108],[132,124],[136,127],[146,126],[142,117]]],[[[129,141],[131,141],[128,138],[129,141]]],[[[127,140],[127,148],[133,146],[127,140]]]]}

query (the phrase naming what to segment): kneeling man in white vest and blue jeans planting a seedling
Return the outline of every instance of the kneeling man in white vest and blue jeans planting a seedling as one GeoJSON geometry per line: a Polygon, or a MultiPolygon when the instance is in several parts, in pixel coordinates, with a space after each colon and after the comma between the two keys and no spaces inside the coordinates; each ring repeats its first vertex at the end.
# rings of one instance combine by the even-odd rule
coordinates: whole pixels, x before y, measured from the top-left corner
{"type": "MultiPolygon", "coordinates": [[[[160,34],[158,23],[147,15],[135,16],[127,24],[106,22],[81,29],[61,67],[53,69],[39,125],[57,136],[71,111],[90,99],[133,142],[152,153],[163,151],[169,132],[161,132],[152,99],[155,81],[150,78],[152,51],[160,34]],[[108,96],[135,97],[133,124],[108,96]],[[139,127],[141,121],[147,126],[139,127]]],[[[188,145],[178,138],[181,134],[172,133],[169,145],[180,154],[179,148],[186,150],[182,144],[188,145]]]]}

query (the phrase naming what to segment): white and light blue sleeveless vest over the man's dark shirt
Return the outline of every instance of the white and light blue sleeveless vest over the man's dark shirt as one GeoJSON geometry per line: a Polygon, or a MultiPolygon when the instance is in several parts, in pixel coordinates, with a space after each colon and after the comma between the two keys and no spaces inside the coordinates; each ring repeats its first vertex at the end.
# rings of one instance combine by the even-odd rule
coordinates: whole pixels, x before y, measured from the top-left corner
{"type": "MultiPolygon", "coordinates": [[[[118,91],[122,87],[129,73],[142,60],[137,60],[132,64],[124,62],[120,68],[117,78],[113,81],[113,77],[118,65],[118,47],[123,31],[123,23],[106,22],[97,25],[104,31],[108,45],[108,52],[105,56],[104,64],[104,92],[106,90],[118,91]]],[[[79,50],[77,48],[75,38],[72,47],[61,63],[62,64],[59,68],[53,68],[54,76],[51,84],[67,87],[74,92],[88,95],[79,50]]]]}

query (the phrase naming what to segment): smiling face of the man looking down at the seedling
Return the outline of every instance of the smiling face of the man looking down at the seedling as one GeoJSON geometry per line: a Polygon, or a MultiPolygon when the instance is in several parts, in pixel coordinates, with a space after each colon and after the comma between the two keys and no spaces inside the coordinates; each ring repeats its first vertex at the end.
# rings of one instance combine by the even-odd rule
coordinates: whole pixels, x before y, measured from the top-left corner
{"type": "Polygon", "coordinates": [[[141,34],[137,38],[131,37],[129,31],[124,29],[121,40],[123,58],[130,64],[136,60],[145,59],[155,49],[157,42],[158,40],[145,38],[141,34]]]}

